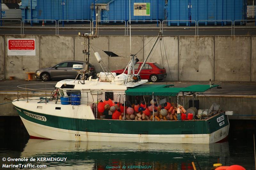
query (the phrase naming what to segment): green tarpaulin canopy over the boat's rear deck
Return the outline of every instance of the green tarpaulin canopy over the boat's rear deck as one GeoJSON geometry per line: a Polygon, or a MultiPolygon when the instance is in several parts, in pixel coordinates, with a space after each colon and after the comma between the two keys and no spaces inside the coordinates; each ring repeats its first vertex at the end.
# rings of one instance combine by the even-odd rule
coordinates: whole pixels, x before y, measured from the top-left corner
{"type": "Polygon", "coordinates": [[[188,87],[172,87],[173,85],[140,85],[125,91],[129,96],[154,95],[156,96],[176,96],[179,92],[205,92],[219,85],[191,85],[188,87]]]}

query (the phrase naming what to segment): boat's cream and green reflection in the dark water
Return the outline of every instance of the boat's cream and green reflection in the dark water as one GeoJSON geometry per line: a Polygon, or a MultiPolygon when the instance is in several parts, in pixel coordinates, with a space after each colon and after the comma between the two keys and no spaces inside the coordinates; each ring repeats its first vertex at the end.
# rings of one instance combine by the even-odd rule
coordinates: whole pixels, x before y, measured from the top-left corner
{"type": "Polygon", "coordinates": [[[193,169],[225,163],[229,157],[228,142],[215,144],[159,144],[131,142],[86,142],[29,139],[21,158],[67,158],[65,162],[31,162],[46,164],[47,169],[193,169]],[[225,157],[224,157],[225,155],[225,157]],[[115,168],[114,168],[115,167],[115,168]]]}

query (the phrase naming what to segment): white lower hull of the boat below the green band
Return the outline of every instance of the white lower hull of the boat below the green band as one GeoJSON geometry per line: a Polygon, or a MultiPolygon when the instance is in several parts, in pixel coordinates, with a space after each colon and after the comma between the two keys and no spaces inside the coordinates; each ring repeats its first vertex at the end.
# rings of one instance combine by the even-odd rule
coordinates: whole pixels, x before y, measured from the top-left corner
{"type": "Polygon", "coordinates": [[[20,116],[31,137],[71,140],[71,141],[106,141],[106,142],[138,142],[138,143],[194,143],[211,144],[223,140],[228,136],[229,125],[211,134],[187,135],[145,135],[145,134],[117,134],[96,133],[58,129],[30,122],[20,116]]]}

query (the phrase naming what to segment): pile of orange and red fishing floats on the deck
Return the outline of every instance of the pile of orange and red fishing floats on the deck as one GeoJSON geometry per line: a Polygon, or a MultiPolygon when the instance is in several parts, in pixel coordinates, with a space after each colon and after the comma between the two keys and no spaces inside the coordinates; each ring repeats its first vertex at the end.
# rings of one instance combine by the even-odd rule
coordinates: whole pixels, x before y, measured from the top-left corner
{"type": "Polygon", "coordinates": [[[111,99],[100,100],[97,106],[98,115],[103,118],[103,112],[108,111],[112,114],[112,119],[119,120],[138,120],[138,121],[177,121],[192,120],[193,114],[185,114],[186,110],[183,106],[175,103],[165,102],[162,106],[157,101],[151,100],[150,103],[141,102],[124,106],[123,103],[113,102],[111,99]],[[180,114],[180,116],[178,116],[180,114]],[[188,116],[187,116],[188,115],[188,116]]]}

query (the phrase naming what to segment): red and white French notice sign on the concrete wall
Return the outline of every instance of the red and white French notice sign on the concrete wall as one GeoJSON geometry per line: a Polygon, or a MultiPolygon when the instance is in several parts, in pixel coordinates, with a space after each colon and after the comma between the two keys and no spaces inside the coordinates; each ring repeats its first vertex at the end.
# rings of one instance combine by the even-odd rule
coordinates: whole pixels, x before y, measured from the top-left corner
{"type": "Polygon", "coordinates": [[[7,39],[7,55],[36,55],[36,39],[7,39]]]}

